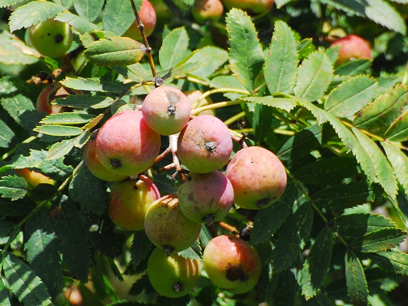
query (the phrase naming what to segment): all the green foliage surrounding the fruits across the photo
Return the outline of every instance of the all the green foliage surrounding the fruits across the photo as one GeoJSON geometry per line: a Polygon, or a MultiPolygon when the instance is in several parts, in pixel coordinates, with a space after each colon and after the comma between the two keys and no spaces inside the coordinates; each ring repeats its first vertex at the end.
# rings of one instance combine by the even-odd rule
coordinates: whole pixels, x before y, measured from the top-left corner
{"type": "MultiPolygon", "coordinates": [[[[110,185],[82,164],[90,131],[154,88],[147,57],[135,63],[140,49],[129,54],[134,45],[119,37],[135,19],[130,1],[3,0],[0,304],[67,304],[62,292],[72,285],[87,305],[405,304],[408,3],[276,0],[268,14],[233,9],[204,25],[192,18],[192,0],[152,3],[158,24],[148,41],[165,84],[224,102],[216,114],[231,131],[247,133],[248,144],[270,149],[287,169],[275,205],[235,208],[225,219],[238,230],[253,225],[263,263],[257,287],[233,295],[202,277],[188,297],[158,296],[145,274],[151,243],[143,231],[114,227],[110,185]],[[24,43],[25,28],[50,17],[74,30],[63,59],[24,43]],[[345,33],[367,39],[373,60],[335,66],[338,49],[327,47],[345,33]],[[44,85],[26,81],[67,64],[73,70],[57,80],[82,94],[56,104],[73,112],[37,112],[44,85]],[[57,184],[31,188],[19,168],[57,184]]],[[[179,184],[171,171],[158,172],[165,162],[149,171],[162,194],[179,184]]],[[[203,225],[200,245],[223,232],[203,225]]],[[[183,256],[199,258],[198,243],[183,256]]]]}

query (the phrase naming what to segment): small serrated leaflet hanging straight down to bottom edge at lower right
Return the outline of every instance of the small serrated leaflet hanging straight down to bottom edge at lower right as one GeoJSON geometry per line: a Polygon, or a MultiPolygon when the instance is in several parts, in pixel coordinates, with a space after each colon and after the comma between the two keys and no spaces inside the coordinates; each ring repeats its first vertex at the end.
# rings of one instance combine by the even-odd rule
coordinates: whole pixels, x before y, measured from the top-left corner
{"type": "Polygon", "coordinates": [[[353,252],[346,252],[346,284],[350,302],[356,306],[367,305],[368,289],[363,265],[353,252]]]}

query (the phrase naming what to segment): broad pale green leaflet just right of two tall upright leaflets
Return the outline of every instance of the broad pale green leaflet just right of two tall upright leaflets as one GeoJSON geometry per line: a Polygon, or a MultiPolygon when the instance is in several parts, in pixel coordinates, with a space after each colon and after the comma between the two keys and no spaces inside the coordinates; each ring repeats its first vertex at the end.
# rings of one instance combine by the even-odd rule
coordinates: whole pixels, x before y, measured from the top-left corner
{"type": "Polygon", "coordinates": [[[295,96],[307,101],[321,98],[333,78],[333,64],[326,54],[312,53],[299,66],[295,96]]]}

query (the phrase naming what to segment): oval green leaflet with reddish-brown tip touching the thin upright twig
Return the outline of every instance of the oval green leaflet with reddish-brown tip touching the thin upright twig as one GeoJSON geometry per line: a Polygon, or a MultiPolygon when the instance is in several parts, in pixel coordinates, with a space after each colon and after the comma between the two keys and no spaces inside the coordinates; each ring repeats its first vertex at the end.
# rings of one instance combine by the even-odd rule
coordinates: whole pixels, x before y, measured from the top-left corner
{"type": "Polygon", "coordinates": [[[146,53],[144,44],[129,37],[110,37],[87,46],[84,56],[101,66],[127,66],[138,63],[146,53]]]}

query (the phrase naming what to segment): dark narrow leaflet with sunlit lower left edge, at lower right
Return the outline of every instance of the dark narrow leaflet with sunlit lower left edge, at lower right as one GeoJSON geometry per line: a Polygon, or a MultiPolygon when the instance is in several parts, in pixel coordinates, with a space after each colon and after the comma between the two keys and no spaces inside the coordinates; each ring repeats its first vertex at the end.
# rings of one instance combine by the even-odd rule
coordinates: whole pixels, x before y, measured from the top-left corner
{"type": "Polygon", "coordinates": [[[330,266],[333,232],[327,226],[320,231],[310,248],[301,271],[302,294],[306,300],[316,295],[330,266]]]}

